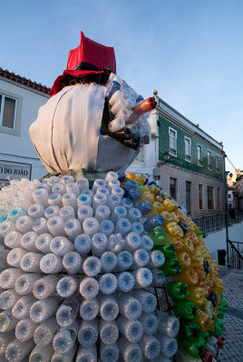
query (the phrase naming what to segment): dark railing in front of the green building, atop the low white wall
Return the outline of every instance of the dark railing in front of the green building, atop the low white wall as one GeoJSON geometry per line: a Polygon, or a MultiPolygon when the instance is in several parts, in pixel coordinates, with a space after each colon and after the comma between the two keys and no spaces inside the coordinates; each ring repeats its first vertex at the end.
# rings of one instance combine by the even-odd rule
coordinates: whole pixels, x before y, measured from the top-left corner
{"type": "MultiPolygon", "coordinates": [[[[216,232],[226,226],[225,213],[213,214],[202,217],[194,217],[192,220],[194,221],[195,224],[199,226],[199,229],[205,234],[216,232]]],[[[232,218],[230,214],[228,214],[228,226],[240,223],[241,221],[243,221],[243,211],[236,210],[234,218],[232,218]]]]}

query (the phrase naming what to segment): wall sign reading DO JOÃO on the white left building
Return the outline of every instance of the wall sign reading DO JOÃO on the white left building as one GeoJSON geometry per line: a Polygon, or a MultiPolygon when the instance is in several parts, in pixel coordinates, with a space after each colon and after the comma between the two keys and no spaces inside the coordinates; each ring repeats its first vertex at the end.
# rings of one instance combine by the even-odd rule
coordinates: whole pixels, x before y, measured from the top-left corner
{"type": "Polygon", "coordinates": [[[7,177],[31,179],[31,164],[21,162],[3,161],[0,159],[0,180],[7,181],[7,177]]]}

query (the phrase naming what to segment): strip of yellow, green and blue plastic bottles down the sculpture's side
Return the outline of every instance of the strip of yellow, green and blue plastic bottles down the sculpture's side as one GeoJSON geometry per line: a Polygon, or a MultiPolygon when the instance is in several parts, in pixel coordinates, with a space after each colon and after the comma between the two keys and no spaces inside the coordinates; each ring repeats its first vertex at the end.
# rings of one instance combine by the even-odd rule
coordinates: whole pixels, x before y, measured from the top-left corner
{"type": "Polygon", "coordinates": [[[172,277],[167,292],[172,310],[180,318],[177,360],[211,362],[223,347],[222,319],[227,311],[217,262],[211,259],[202,233],[183,208],[156,183],[146,183],[145,176],[131,173],[123,187],[148,218],[144,229],[154,250],[164,254],[161,270],[172,277]]]}

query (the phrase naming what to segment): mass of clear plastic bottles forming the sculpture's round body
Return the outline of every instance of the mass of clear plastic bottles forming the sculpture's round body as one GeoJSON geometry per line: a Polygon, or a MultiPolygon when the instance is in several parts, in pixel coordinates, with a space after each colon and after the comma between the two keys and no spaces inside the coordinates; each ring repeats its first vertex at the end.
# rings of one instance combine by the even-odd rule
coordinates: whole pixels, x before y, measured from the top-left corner
{"type": "Polygon", "coordinates": [[[153,289],[164,254],[153,250],[154,217],[131,181],[109,172],[90,188],[86,178],[51,176],[0,191],[0,361],[176,354],[179,319],[158,310],[153,289]]]}

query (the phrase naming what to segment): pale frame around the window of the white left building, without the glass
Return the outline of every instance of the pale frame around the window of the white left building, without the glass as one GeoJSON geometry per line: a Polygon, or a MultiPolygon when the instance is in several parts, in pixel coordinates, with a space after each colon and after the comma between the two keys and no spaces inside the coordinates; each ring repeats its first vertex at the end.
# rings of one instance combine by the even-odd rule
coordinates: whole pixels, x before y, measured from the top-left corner
{"type": "Polygon", "coordinates": [[[3,89],[0,89],[0,94],[2,96],[2,106],[0,111],[0,132],[7,133],[13,136],[20,136],[23,97],[3,89]],[[3,105],[5,104],[5,97],[15,100],[14,129],[9,129],[8,127],[3,126],[3,117],[4,117],[3,105]]]}

